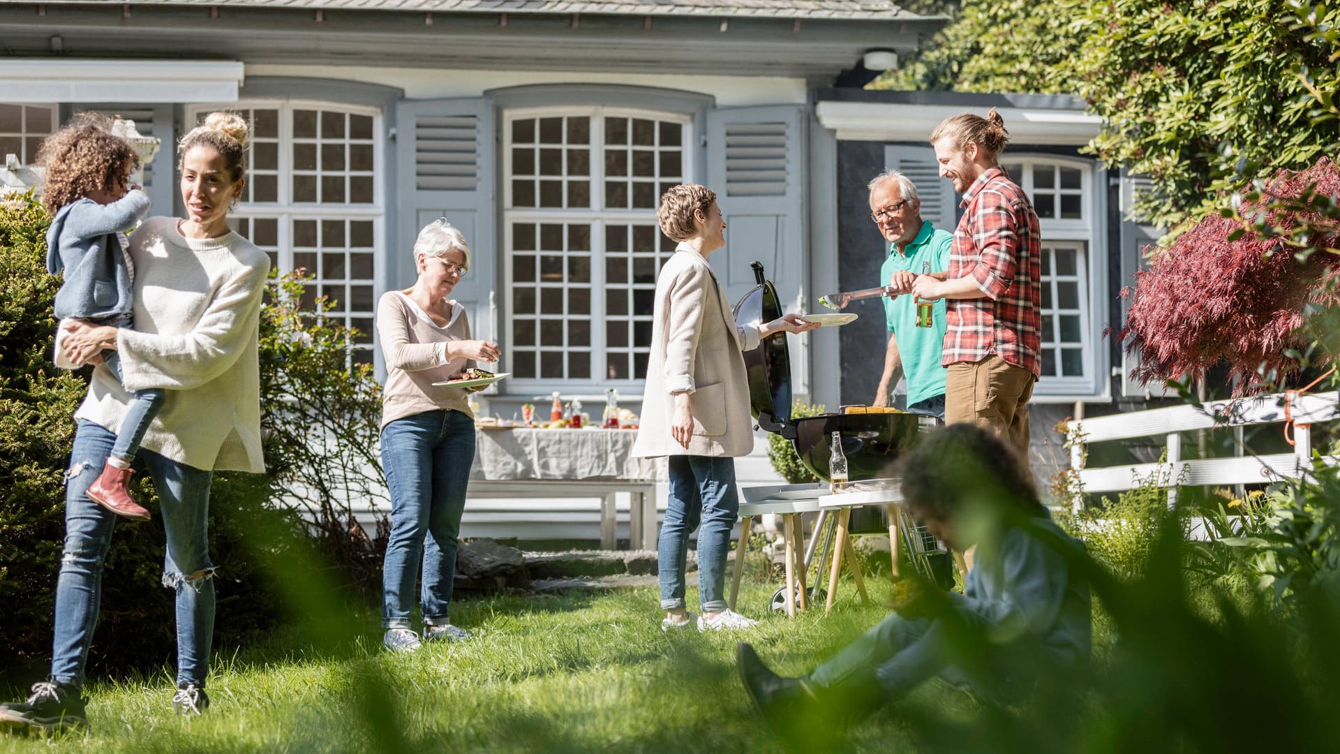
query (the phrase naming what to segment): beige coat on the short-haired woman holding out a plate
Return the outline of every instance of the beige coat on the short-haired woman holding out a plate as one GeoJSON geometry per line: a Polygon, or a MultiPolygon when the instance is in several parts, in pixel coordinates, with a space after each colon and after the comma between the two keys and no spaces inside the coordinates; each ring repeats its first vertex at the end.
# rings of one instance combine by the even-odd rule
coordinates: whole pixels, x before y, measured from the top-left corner
{"type": "Polygon", "coordinates": [[[737,326],[708,260],[681,243],[657,278],[651,358],[636,457],[744,456],[753,449],[749,382],[741,350],[758,347],[756,327],[737,326]],[[689,392],[693,439],[670,436],[674,393],[689,392]]]}

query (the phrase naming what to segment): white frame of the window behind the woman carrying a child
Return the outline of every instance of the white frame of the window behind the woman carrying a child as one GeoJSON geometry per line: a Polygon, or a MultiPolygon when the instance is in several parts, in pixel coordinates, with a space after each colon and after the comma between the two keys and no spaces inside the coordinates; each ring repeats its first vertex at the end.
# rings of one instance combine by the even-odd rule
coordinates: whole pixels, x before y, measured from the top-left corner
{"type": "MultiPolygon", "coordinates": [[[[275,220],[276,221],[276,239],[275,251],[277,256],[277,268],[283,272],[289,272],[293,270],[293,239],[292,239],[292,221],[296,220],[315,220],[320,223],[322,220],[371,220],[373,221],[373,310],[367,313],[366,319],[375,322],[375,306],[381,299],[382,294],[386,291],[386,274],[382,264],[381,254],[378,250],[387,248],[386,236],[386,170],[390,169],[387,165],[387,145],[385,138],[385,130],[382,126],[382,109],[368,107],[364,105],[351,105],[344,102],[328,102],[316,99],[243,99],[239,102],[216,103],[216,105],[188,105],[185,109],[185,123],[186,129],[194,126],[198,115],[201,113],[209,113],[212,110],[277,110],[279,111],[279,161],[277,166],[277,186],[275,193],[275,201],[239,201],[237,207],[230,212],[230,215],[237,217],[247,217],[249,220],[275,220]],[[320,201],[304,201],[295,203],[292,197],[292,146],[293,146],[293,110],[331,110],[340,111],[351,115],[370,115],[373,118],[373,203],[371,204],[354,204],[354,203],[320,203],[320,201]]],[[[248,153],[248,161],[251,153],[248,153]]],[[[320,157],[318,156],[318,165],[320,157]]],[[[176,172],[176,168],[174,168],[176,172]]],[[[177,176],[180,178],[180,176],[177,176]]],[[[346,243],[347,247],[347,243],[346,243]]],[[[346,276],[346,280],[350,278],[346,276]]],[[[323,284],[322,278],[316,278],[315,284],[319,287],[323,284]]],[[[342,321],[348,319],[363,319],[359,315],[351,314],[348,309],[348,302],[340,302],[339,311],[342,321]]],[[[375,362],[377,346],[374,343],[377,331],[375,325],[370,331],[362,333],[366,342],[354,346],[355,350],[367,352],[366,361],[368,364],[375,362]]]]}

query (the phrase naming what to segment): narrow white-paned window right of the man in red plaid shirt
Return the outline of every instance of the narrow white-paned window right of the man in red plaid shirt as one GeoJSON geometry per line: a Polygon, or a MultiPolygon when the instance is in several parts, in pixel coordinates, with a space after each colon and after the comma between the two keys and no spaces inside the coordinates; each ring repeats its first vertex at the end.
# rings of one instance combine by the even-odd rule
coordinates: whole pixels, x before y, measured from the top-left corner
{"type": "Polygon", "coordinates": [[[1107,280],[1089,259],[1099,237],[1092,162],[1017,157],[1004,164],[1033,200],[1043,232],[1043,374],[1038,396],[1085,397],[1103,392],[1107,342],[1100,333],[1107,280]]]}

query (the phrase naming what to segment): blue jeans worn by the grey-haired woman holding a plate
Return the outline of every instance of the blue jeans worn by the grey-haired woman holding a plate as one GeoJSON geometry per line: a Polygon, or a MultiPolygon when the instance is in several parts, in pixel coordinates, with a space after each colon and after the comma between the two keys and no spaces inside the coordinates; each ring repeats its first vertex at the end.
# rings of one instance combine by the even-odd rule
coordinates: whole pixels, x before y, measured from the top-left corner
{"type": "Polygon", "coordinates": [[[382,429],[382,467],[391,492],[382,628],[410,628],[421,555],[423,624],[450,623],[457,537],[473,463],[474,420],[458,411],[415,413],[382,429]]]}

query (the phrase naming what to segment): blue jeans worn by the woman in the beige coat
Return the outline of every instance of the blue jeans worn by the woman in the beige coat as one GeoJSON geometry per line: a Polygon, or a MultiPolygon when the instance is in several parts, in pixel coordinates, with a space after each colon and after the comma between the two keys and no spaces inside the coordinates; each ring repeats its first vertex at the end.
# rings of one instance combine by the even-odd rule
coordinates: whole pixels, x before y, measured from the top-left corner
{"type": "Polygon", "coordinates": [[[685,559],[694,529],[698,529],[698,600],[704,610],[726,609],[726,554],[738,514],[734,459],[670,456],[670,499],[657,542],[662,609],[685,606],[685,559]]]}

